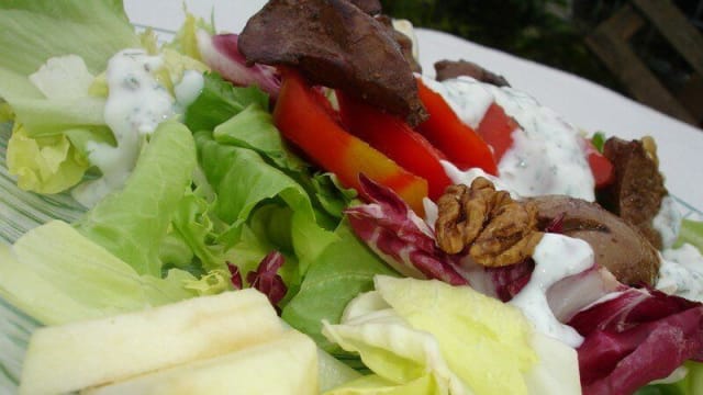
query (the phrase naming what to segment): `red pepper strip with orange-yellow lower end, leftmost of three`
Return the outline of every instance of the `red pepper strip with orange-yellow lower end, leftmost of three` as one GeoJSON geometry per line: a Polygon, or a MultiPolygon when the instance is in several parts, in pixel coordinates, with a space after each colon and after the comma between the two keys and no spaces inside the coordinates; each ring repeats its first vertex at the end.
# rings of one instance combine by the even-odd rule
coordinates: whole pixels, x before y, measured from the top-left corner
{"type": "Polygon", "coordinates": [[[427,181],[410,173],[358,137],[347,133],[332,114],[326,100],[298,72],[282,70],[281,90],[274,121],[281,134],[316,165],[335,173],[347,188],[364,193],[359,174],[395,191],[419,215],[427,196],[427,181]]]}

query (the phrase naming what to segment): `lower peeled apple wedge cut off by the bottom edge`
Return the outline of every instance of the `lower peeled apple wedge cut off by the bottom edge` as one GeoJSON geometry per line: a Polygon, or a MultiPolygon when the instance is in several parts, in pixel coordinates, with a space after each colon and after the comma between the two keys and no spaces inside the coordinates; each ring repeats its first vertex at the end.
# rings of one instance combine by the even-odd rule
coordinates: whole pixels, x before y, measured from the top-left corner
{"type": "Polygon", "coordinates": [[[289,330],[258,346],[107,385],[90,395],[306,395],[317,393],[317,348],[289,330]]]}

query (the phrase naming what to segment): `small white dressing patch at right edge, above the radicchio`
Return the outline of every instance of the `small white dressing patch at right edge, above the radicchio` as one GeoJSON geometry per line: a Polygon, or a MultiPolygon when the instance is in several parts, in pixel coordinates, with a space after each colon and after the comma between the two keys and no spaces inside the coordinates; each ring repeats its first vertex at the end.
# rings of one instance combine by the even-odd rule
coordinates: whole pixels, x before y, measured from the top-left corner
{"type": "Polygon", "coordinates": [[[663,250],[657,290],[703,302],[703,256],[698,248],[684,244],[663,250]]]}

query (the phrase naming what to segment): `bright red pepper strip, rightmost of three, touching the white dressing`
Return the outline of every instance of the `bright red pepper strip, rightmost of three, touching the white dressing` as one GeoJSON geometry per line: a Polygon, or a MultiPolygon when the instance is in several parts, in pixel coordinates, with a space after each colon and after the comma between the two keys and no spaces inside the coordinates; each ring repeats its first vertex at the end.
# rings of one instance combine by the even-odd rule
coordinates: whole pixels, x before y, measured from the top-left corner
{"type": "Polygon", "coordinates": [[[444,98],[417,80],[420,100],[429,114],[417,131],[461,170],[481,168],[498,174],[498,165],[488,144],[467,124],[461,122],[444,98]]]}

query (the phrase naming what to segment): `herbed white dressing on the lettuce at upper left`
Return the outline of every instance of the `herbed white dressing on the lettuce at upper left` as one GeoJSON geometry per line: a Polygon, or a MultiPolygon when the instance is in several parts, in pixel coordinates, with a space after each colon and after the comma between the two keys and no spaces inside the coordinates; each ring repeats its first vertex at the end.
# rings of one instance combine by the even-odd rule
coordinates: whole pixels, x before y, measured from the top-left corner
{"type": "Polygon", "coordinates": [[[181,82],[175,87],[176,101],[155,78],[154,74],[163,63],[160,56],[147,55],[144,49],[123,49],[108,63],[109,95],[104,120],[116,145],[87,144],[88,160],[101,171],[102,177],[74,189],[74,198],[82,205],[93,206],[122,187],[136,165],[146,136],[159,123],[192,102],[202,89],[202,76],[192,70],[186,71],[181,82]]]}

